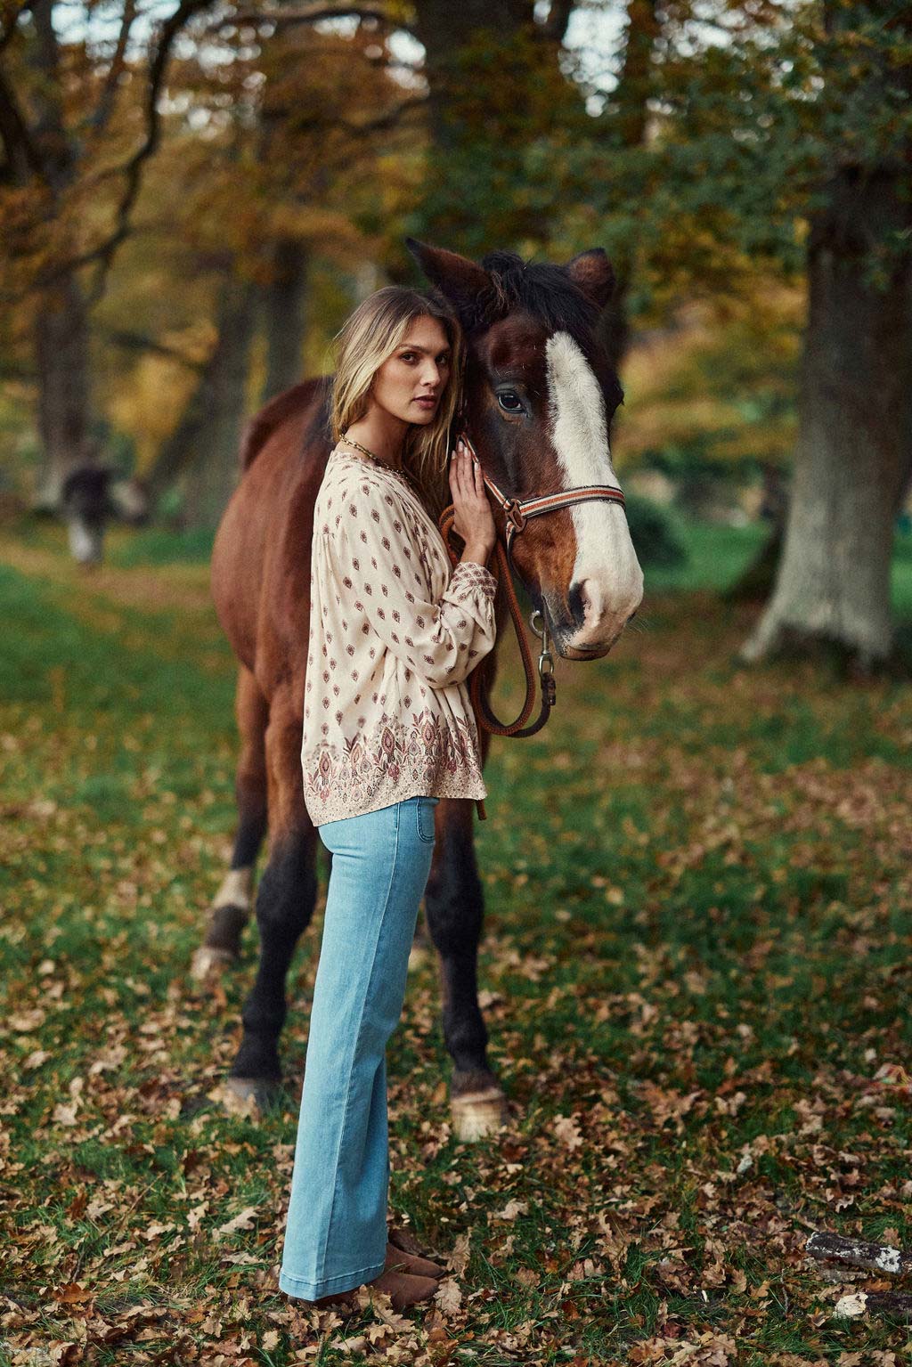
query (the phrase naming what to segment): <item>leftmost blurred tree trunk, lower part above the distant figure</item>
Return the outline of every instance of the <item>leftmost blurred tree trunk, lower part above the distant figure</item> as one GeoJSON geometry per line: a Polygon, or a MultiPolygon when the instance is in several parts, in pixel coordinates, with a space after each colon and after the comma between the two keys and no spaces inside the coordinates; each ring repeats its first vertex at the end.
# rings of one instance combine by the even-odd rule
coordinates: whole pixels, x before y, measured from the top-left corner
{"type": "Polygon", "coordinates": [[[36,507],[55,513],[63,481],[92,461],[89,450],[89,320],[82,291],[66,278],[38,303],[34,327],[38,429],[44,459],[36,507]]]}

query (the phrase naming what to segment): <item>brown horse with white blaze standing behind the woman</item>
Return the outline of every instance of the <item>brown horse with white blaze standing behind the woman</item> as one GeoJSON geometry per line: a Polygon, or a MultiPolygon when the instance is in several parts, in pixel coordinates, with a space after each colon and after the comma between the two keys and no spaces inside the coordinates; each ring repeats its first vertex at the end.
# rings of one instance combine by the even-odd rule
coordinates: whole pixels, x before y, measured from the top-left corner
{"type": "MultiPolygon", "coordinates": [[[[462,416],[485,473],[518,499],[617,484],[608,425],[622,392],[595,335],[614,283],[604,253],[585,252],[558,267],[524,264],[498,252],[476,265],[417,242],[409,249],[465,328],[462,416]]],[[[231,871],[216,895],[194,972],[202,976],[238,957],[253,867],[268,826],[269,853],[256,902],[260,962],[230,1079],[237,1092],[260,1100],[282,1079],[278,1040],[286,973],[317,889],[317,834],[304,804],[301,734],[313,503],[332,446],[328,392],[328,380],[299,384],[252,421],[242,451],[245,474],[212,556],[219,619],[241,664],[239,824],[231,871]]],[[[499,509],[495,524],[503,536],[499,509]]],[[[511,558],[567,659],[606,655],[643,595],[643,574],[617,503],[587,502],[531,521],[514,539],[511,558]]],[[[506,606],[502,593],[498,599],[500,627],[506,606]]],[[[495,655],[481,666],[488,686],[495,655]]],[[[488,740],[483,733],[483,759],[488,740]]],[[[464,1139],[488,1133],[503,1114],[477,1001],[483,894],[473,809],[469,800],[439,802],[425,891],[428,930],[440,956],[444,1038],[454,1061],[454,1124],[464,1139]]]]}

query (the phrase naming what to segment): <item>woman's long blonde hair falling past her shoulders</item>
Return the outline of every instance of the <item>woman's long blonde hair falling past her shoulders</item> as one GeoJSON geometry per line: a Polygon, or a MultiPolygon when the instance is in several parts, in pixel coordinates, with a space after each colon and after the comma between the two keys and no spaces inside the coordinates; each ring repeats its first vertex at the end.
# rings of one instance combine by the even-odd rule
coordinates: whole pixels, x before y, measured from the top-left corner
{"type": "Polygon", "coordinates": [[[450,427],[459,402],[464,340],[455,313],[446,303],[418,290],[387,284],[371,294],[336,335],[336,369],[330,421],[332,440],[362,418],[373,376],[387,361],[416,319],[435,319],[450,344],[450,376],[433,421],[412,427],[402,448],[402,463],[421,485],[435,517],[451,502],[447,480],[450,427]]]}

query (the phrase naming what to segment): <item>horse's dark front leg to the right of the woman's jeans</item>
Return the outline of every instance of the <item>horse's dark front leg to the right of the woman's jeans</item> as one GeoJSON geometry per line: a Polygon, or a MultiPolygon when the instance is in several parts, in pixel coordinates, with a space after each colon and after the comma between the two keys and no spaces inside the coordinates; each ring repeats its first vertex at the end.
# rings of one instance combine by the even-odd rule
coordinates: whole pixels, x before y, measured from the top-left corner
{"type": "Polygon", "coordinates": [[[484,897],[474,857],[472,808],[470,801],[440,801],[438,848],[424,894],[431,939],[440,956],[443,1038],[454,1064],[453,1128],[462,1140],[494,1133],[506,1117],[503,1091],[488,1066],[488,1032],[479,1006],[484,897]]]}

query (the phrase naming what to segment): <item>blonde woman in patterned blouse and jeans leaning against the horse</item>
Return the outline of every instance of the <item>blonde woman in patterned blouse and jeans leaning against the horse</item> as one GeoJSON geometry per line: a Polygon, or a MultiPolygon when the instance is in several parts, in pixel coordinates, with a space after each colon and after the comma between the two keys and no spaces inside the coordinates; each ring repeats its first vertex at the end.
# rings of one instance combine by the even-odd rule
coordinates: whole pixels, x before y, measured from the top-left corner
{"type": "Polygon", "coordinates": [[[323,1304],[368,1285],[402,1310],[443,1270],[387,1240],[386,1046],[433,853],[440,797],[487,796],[465,679],[495,640],[495,529],[481,472],[448,469],[462,339],[412,290],[366,299],[339,335],[314,506],[302,768],[332,853],[279,1285],[323,1304]]]}

